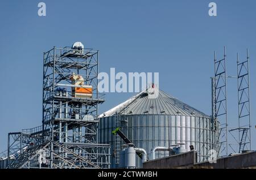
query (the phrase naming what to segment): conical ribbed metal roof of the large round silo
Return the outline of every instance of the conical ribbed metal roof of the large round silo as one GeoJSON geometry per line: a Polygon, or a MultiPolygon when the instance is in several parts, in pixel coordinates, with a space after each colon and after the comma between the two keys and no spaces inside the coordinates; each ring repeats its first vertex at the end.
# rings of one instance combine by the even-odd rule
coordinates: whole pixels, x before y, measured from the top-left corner
{"type": "Polygon", "coordinates": [[[159,89],[158,96],[150,98],[148,91],[143,91],[129,98],[125,102],[115,106],[100,115],[109,117],[116,113],[120,114],[168,114],[168,115],[188,115],[195,117],[210,118],[209,115],[192,108],[188,104],[181,102],[175,97],[168,95],[159,89]]]}

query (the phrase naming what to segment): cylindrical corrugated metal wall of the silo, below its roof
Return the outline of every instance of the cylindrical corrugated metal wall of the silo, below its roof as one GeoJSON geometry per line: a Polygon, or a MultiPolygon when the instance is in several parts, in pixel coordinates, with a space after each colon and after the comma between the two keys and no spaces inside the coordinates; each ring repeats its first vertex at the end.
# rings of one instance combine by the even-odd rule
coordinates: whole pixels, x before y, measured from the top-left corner
{"type": "MultiPolygon", "coordinates": [[[[198,161],[207,161],[210,149],[216,149],[216,134],[210,128],[212,123],[209,118],[155,114],[127,115],[126,117],[127,126],[122,127],[122,132],[136,147],[145,149],[149,159],[151,149],[156,146],[169,147],[177,143],[185,143],[184,148],[189,151],[189,145],[193,145],[198,153],[198,161]]],[[[111,145],[111,168],[117,168],[115,153],[118,149],[122,149],[121,144],[125,144],[120,139],[119,147],[116,149],[115,136],[112,134],[112,131],[117,128],[115,119],[115,115],[100,118],[98,129],[98,142],[111,145]]],[[[168,152],[165,151],[155,154],[156,158],[166,156],[168,156],[168,152]]],[[[137,157],[137,167],[142,167],[139,157],[137,157]]]]}

